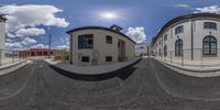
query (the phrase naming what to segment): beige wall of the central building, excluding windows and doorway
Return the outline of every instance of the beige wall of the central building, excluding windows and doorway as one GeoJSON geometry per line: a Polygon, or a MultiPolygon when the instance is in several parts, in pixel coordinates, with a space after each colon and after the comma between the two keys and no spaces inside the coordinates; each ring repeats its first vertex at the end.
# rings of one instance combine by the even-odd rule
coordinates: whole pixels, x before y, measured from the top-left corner
{"type": "MultiPolygon", "coordinates": [[[[80,30],[73,32],[70,35],[73,37],[73,64],[80,65],[77,54],[81,53],[82,56],[91,56],[94,50],[78,50],[78,35],[94,34],[94,50],[99,52],[98,65],[107,64],[106,56],[112,56],[112,63],[118,62],[118,40],[125,42],[125,55],[129,59],[134,57],[134,43],[132,43],[127,37],[119,35],[117,33],[105,31],[105,30],[80,30]],[[106,43],[106,35],[112,36],[112,44],[106,43]]],[[[82,64],[87,65],[87,64],[82,64]]],[[[88,65],[91,65],[88,64],[88,65]]]]}

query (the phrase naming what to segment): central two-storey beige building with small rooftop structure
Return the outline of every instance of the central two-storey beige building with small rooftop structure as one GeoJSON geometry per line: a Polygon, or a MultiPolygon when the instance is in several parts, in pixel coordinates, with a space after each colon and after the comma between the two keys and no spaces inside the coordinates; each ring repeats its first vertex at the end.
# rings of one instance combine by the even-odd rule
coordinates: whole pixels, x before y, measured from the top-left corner
{"type": "Polygon", "coordinates": [[[70,64],[88,66],[132,59],[135,42],[121,31],[122,28],[117,25],[85,26],[68,31],[70,64]]]}

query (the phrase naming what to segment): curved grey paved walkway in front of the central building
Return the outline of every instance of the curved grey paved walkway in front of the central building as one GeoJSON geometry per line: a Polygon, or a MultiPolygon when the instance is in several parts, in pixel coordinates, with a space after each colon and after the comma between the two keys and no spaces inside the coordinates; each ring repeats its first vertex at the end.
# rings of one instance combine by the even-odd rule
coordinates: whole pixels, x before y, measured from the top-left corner
{"type": "Polygon", "coordinates": [[[129,65],[132,65],[139,62],[140,58],[134,58],[132,61],[124,62],[124,63],[114,63],[114,64],[99,65],[99,66],[74,66],[67,63],[54,62],[53,59],[45,59],[45,61],[54,65],[55,67],[69,72],[69,73],[80,74],[80,75],[101,75],[101,74],[116,72],[129,65]]]}

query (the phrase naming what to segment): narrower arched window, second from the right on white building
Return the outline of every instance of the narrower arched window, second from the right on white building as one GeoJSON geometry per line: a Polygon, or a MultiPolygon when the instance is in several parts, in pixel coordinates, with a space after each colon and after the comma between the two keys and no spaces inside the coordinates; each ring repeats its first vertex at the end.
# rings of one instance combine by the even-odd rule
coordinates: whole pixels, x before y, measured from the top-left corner
{"type": "Polygon", "coordinates": [[[177,40],[175,43],[175,55],[183,56],[183,40],[177,40]]]}

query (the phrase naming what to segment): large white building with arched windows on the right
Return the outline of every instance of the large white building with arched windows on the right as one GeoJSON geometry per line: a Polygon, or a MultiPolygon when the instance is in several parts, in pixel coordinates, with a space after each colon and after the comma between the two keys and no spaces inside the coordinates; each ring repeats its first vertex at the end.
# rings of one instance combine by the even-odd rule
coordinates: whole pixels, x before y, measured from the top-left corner
{"type": "Polygon", "coordinates": [[[220,59],[220,14],[194,13],[166,23],[152,40],[153,55],[161,59],[220,59]]]}

